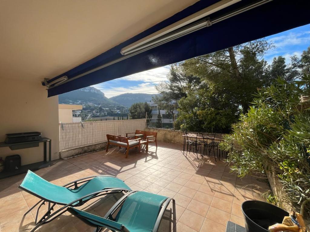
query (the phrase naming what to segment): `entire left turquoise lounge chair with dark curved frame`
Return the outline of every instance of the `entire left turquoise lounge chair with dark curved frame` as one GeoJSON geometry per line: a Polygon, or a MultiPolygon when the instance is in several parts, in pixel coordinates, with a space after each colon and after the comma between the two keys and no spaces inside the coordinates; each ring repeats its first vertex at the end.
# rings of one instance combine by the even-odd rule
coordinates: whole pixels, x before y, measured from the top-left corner
{"type": "Polygon", "coordinates": [[[102,195],[131,191],[131,188],[124,181],[114,176],[89,176],[70,182],[64,186],[58,186],[46,181],[30,170],[28,170],[19,188],[41,199],[24,214],[26,215],[40,204],[34,222],[36,226],[31,232],[66,212],[69,206],[81,206],[88,200],[102,195]],[[45,203],[48,203],[48,210],[38,220],[39,209],[45,203]],[[56,204],[62,205],[62,207],[52,213],[56,204]]]}

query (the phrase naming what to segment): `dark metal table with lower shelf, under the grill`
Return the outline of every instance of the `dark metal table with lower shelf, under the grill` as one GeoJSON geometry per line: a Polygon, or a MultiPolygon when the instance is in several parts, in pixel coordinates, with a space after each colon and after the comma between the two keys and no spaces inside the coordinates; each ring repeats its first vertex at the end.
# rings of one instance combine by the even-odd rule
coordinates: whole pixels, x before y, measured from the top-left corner
{"type": "Polygon", "coordinates": [[[13,144],[7,144],[5,142],[1,142],[0,148],[9,147],[11,150],[38,147],[39,143],[44,143],[43,161],[23,165],[19,169],[15,171],[11,171],[11,172],[7,172],[4,170],[3,172],[0,173],[0,179],[13,176],[13,175],[17,175],[20,173],[24,173],[24,172],[27,172],[28,170],[37,170],[40,168],[45,168],[51,165],[51,139],[49,138],[42,138],[41,140],[34,140],[34,141],[29,141],[29,142],[13,143],[13,144]],[[48,157],[47,157],[47,142],[48,142],[48,157]]]}

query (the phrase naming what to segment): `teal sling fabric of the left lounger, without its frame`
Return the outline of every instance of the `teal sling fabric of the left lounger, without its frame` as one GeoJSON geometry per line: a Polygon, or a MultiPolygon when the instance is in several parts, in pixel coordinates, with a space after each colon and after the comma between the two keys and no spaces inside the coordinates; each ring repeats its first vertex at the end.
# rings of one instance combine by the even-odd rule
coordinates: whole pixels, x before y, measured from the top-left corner
{"type": "MultiPolygon", "coordinates": [[[[97,176],[82,184],[77,189],[68,189],[52,184],[30,170],[20,184],[20,187],[37,195],[39,198],[44,198],[58,204],[69,204],[85,195],[106,188],[125,188],[131,191],[121,179],[108,176],[97,176]]],[[[83,200],[86,200],[86,198],[83,200]]]]}

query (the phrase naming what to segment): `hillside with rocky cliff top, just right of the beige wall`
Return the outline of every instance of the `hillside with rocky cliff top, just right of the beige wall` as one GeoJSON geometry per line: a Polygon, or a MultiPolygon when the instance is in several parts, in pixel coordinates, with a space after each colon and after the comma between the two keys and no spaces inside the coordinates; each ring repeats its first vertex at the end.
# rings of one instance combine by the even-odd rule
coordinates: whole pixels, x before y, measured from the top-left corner
{"type": "Polygon", "coordinates": [[[95,104],[101,107],[116,107],[120,105],[104,96],[104,93],[94,87],[85,87],[58,96],[60,104],[95,104]]]}

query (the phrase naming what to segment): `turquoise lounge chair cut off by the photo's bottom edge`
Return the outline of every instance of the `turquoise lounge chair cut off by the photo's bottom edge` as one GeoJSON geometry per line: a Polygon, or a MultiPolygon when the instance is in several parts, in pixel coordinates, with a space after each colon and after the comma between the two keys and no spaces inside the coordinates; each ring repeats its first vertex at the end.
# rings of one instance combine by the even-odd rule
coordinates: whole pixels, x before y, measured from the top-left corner
{"type": "MultiPolygon", "coordinates": [[[[94,232],[100,232],[103,228],[113,232],[157,232],[171,200],[175,205],[175,200],[172,198],[143,191],[132,191],[118,200],[104,217],[71,207],[68,211],[87,225],[95,227],[94,232]],[[117,209],[119,211],[113,217],[117,209]]],[[[173,212],[175,213],[175,208],[173,212]]]]}

